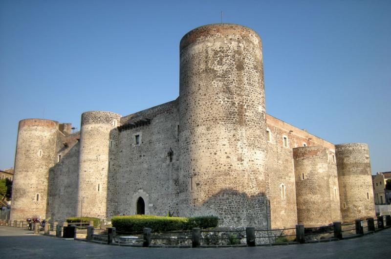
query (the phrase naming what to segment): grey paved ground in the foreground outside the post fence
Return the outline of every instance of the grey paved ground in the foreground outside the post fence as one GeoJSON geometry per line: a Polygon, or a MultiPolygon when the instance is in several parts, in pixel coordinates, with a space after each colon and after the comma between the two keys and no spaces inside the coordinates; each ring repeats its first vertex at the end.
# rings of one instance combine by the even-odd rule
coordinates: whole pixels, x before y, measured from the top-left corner
{"type": "Polygon", "coordinates": [[[391,228],[354,239],[280,246],[141,248],[34,235],[0,226],[0,258],[390,258],[391,228]]]}

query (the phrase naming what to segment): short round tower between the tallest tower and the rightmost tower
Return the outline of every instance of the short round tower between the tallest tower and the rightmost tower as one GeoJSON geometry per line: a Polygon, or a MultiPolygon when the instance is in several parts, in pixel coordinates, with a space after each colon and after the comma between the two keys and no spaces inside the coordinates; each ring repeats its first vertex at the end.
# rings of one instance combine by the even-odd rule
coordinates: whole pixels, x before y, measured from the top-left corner
{"type": "Polygon", "coordinates": [[[337,168],[325,147],[293,149],[297,221],[308,227],[341,220],[337,168]]]}

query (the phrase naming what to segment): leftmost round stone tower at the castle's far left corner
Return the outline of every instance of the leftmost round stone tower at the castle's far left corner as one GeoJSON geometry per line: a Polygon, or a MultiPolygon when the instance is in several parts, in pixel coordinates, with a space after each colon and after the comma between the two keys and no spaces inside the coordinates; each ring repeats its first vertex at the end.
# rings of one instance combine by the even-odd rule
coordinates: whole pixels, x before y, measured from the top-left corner
{"type": "Polygon", "coordinates": [[[55,164],[58,122],[19,122],[11,220],[45,218],[49,169],[55,164]]]}

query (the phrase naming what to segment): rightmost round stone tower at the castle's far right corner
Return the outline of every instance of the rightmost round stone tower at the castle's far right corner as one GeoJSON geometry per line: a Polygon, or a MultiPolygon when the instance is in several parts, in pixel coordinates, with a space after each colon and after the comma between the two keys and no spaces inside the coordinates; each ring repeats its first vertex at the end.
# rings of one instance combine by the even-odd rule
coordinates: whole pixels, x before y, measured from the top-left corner
{"type": "Polygon", "coordinates": [[[335,155],[343,220],[375,216],[368,145],[335,145],[335,155]]]}

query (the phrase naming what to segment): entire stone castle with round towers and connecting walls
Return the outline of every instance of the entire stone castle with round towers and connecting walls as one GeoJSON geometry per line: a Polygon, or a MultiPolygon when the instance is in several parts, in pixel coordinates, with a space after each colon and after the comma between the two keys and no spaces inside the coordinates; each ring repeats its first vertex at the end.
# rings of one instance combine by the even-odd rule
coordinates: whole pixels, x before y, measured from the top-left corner
{"type": "Polygon", "coordinates": [[[262,45],[236,24],[180,41],[179,97],[80,132],[19,123],[12,220],[152,214],[222,226],[319,226],[374,216],[366,144],[334,145],[265,112],[262,45]]]}

